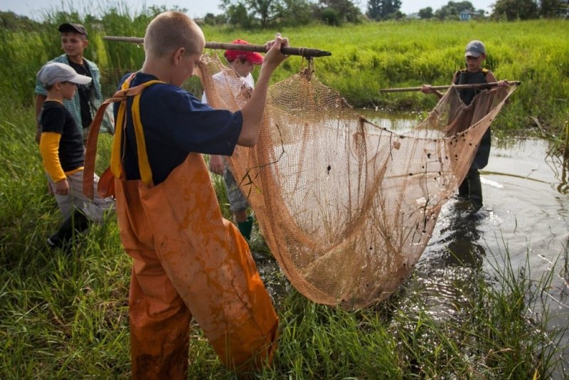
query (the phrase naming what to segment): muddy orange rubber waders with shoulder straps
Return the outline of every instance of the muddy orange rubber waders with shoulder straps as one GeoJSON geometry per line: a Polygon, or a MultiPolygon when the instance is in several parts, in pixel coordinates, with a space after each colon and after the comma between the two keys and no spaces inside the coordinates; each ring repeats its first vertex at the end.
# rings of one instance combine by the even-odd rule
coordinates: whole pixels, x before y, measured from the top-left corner
{"type": "MultiPolygon", "coordinates": [[[[134,258],[129,293],[132,375],[186,379],[192,317],[228,368],[245,372],[270,364],[278,318],[248,244],[221,216],[201,154],[188,154],[154,186],[139,102],[144,88],[162,82],[129,88],[132,78],[97,111],[102,120],[107,105],[120,102],[111,167],[101,176],[99,192],[115,191],[122,244],[134,258]],[[132,96],[140,180],[127,180],[122,171],[126,100],[132,96]]],[[[87,137],[85,171],[90,172],[95,166],[97,116],[87,137]]],[[[92,176],[87,172],[85,178],[92,176]]],[[[92,196],[92,184],[90,190],[88,186],[84,193],[92,196]]]]}

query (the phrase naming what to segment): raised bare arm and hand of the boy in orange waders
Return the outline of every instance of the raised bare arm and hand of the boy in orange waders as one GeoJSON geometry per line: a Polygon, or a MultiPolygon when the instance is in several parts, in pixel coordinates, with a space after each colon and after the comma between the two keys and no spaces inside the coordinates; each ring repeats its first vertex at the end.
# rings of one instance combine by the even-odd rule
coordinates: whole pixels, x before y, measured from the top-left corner
{"type": "Polygon", "coordinates": [[[262,115],[265,111],[265,102],[267,102],[269,80],[275,68],[287,58],[280,52],[280,48],[281,46],[288,46],[288,39],[282,38],[280,33],[277,33],[275,40],[267,42],[266,46],[270,49],[261,65],[261,72],[259,73],[255,90],[253,90],[249,101],[241,108],[243,127],[237,139],[237,144],[245,147],[252,147],[257,144],[257,137],[262,124],[262,115]]]}

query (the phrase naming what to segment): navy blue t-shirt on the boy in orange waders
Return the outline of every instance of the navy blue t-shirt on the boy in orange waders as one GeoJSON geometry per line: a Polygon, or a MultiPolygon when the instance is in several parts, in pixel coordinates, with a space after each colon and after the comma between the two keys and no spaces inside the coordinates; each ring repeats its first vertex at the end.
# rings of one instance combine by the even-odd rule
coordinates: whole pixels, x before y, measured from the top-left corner
{"type": "MultiPolygon", "coordinates": [[[[121,84],[128,77],[122,78],[121,84]]],[[[156,79],[154,75],[137,73],[131,87],[156,79]]],[[[127,99],[127,125],[123,140],[123,166],[128,180],[140,179],[131,117],[133,99],[127,99]]],[[[118,103],[115,103],[115,119],[117,110],[118,103]]],[[[233,154],[243,126],[240,111],[215,110],[186,90],[166,83],[156,83],[144,89],[140,97],[140,120],[155,185],[164,181],[190,152],[233,154]]]]}

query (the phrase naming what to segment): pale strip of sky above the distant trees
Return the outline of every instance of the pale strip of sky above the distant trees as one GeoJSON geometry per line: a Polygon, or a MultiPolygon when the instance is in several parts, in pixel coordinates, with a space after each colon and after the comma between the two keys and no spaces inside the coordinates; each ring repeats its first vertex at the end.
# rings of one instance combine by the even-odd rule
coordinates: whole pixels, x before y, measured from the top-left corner
{"type": "MultiPolygon", "coordinates": [[[[476,9],[484,9],[491,11],[491,4],[496,0],[471,0],[470,2],[476,9]]],[[[356,0],[361,9],[365,11],[366,0],[356,0]]],[[[411,1],[403,0],[401,11],[405,14],[410,14],[419,11],[419,9],[430,6],[433,10],[439,9],[441,6],[448,3],[448,0],[434,0],[428,1],[411,1]]],[[[188,15],[191,17],[201,17],[207,13],[219,14],[220,0],[2,0],[0,2],[0,11],[14,11],[16,14],[31,17],[32,19],[41,19],[42,11],[53,9],[75,9],[78,11],[89,10],[92,14],[97,14],[98,9],[105,9],[112,4],[126,5],[129,9],[134,11],[142,9],[145,4],[150,5],[164,5],[167,8],[171,6],[179,6],[180,8],[188,9],[188,15]],[[95,11],[94,11],[95,10],[95,11]]],[[[86,12],[85,12],[86,13],[86,12]]]]}

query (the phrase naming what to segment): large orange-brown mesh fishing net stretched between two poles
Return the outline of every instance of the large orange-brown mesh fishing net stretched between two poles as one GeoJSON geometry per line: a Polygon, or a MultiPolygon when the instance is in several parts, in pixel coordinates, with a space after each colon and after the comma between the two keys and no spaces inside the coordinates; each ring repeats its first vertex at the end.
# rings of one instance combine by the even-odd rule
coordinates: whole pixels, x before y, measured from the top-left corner
{"type": "MultiPolygon", "coordinates": [[[[238,110],[250,97],[217,56],[204,56],[198,71],[213,107],[238,110]]],[[[292,285],[346,308],[390,295],[515,89],[484,90],[465,106],[450,88],[415,129],[397,134],[354,112],[310,68],[272,85],[257,145],[228,160],[292,285]]]]}

